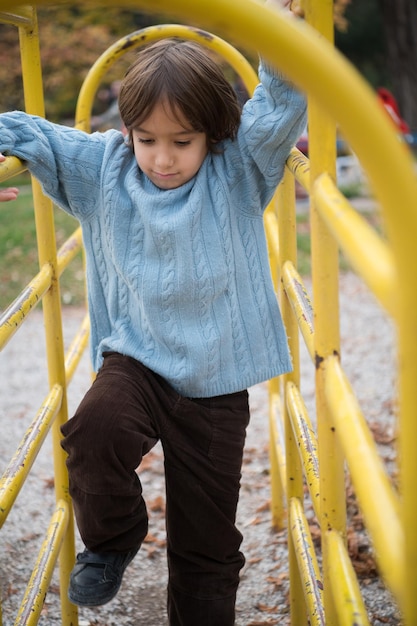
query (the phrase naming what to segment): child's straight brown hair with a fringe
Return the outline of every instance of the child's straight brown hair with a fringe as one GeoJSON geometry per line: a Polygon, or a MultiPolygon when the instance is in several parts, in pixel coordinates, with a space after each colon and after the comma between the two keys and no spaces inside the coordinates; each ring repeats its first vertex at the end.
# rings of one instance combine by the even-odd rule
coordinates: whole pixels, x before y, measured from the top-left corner
{"type": "Polygon", "coordinates": [[[209,149],[236,136],[236,94],[220,66],[197,43],[162,39],[139,52],[119,94],[120,115],[130,136],[162,101],[174,115],[180,111],[194,131],[206,133],[209,149]]]}

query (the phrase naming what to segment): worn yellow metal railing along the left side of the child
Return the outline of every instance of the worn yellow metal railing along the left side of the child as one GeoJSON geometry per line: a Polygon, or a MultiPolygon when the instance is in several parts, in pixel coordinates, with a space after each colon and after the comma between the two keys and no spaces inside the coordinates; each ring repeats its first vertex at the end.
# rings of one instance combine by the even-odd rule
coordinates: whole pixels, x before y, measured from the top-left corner
{"type": "MultiPolygon", "coordinates": [[[[36,12],[30,7],[24,7],[21,12],[14,9],[9,15],[2,14],[0,19],[19,27],[26,110],[28,113],[44,115],[36,12]]],[[[22,169],[16,159],[9,159],[5,167],[6,177],[22,169]]],[[[74,523],[68,494],[68,476],[59,445],[60,426],[68,418],[66,393],[71,377],[65,367],[58,279],[72,258],[72,252],[69,252],[66,246],[61,254],[57,253],[52,203],[43,195],[36,180],[32,182],[32,191],[40,271],[1,316],[0,349],[42,300],[47,352],[45,371],[48,373],[50,392],[0,480],[1,525],[6,520],[49,431],[54,442],[56,510],[50,520],[45,541],[16,617],[15,624],[22,626],[38,622],[58,556],[62,623],[74,624],[77,619],[76,608],[70,604],[66,593],[74,562],[74,523]]],[[[76,240],[79,249],[80,238],[76,236],[76,240]]],[[[80,338],[80,342],[84,343],[84,337],[80,338]]]]}

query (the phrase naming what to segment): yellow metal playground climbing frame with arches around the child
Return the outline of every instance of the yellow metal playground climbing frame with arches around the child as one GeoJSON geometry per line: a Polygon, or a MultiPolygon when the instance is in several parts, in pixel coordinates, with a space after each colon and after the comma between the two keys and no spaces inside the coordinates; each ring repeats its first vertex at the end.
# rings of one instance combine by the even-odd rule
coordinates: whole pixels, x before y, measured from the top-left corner
{"type": "MultiPolygon", "coordinates": [[[[42,4],[47,4],[44,1],[42,4]]],[[[40,3],[39,3],[40,4],[40,3]]],[[[103,5],[110,2],[102,1],[103,5]]],[[[293,150],[276,202],[265,216],[271,268],[290,337],[292,374],[270,382],[272,518],[287,521],[291,623],[369,624],[360,588],[346,549],[345,465],[357,493],[378,560],[407,626],[417,622],[414,567],[417,558],[417,181],[407,148],[377,104],[376,97],[332,47],[332,2],[306,0],[306,23],[287,20],[250,0],[124,0],[124,7],[174,13],[201,27],[259,51],[309,97],[309,160],[293,150]],[[381,206],[387,241],[340,194],[335,179],[336,123],[360,159],[381,206]],[[294,179],[310,195],[312,298],[297,272],[294,179]],[[395,324],[398,344],[398,471],[400,493],[392,486],[365,417],[340,362],[338,252],[343,250],[395,324]],[[313,304],[312,304],[313,302],[313,304]],[[300,331],[300,332],[299,332],[300,331]],[[316,425],[299,388],[299,335],[315,368],[316,425]],[[283,433],[283,434],[282,434],[283,433]],[[322,535],[321,566],[304,512],[308,485],[322,535]]],[[[26,109],[43,115],[36,11],[14,0],[0,0],[0,19],[19,28],[26,109]]],[[[169,26],[117,42],[92,68],[80,93],[76,121],[88,130],[94,94],[109,64],[139,40],[170,36],[196,38],[230,62],[248,89],[255,76],[223,40],[200,30],[169,26]],[[178,29],[179,30],[175,30],[178,29]],[[174,29],[174,30],[172,30],[174,29]]],[[[21,171],[8,159],[0,180],[21,171]]],[[[28,584],[15,624],[36,624],[52,571],[60,555],[62,624],[77,624],[66,598],[74,560],[74,532],[59,427],[67,419],[66,390],[88,337],[88,318],[67,355],[62,341],[59,277],[81,246],[79,231],[56,252],[52,206],[34,181],[40,271],[0,321],[3,347],[42,299],[46,327],[50,393],[0,481],[3,524],[51,429],[55,450],[56,511],[28,584]],[[23,462],[24,461],[24,462],[23,462]]],[[[0,613],[1,615],[1,613],[0,613]]]]}

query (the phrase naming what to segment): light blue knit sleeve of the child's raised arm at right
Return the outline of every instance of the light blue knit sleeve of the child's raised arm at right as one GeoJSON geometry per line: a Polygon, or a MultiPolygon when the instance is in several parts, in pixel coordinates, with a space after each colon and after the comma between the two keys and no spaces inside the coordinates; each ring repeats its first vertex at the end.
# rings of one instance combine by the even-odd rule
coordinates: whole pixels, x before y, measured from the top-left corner
{"type": "MultiPolygon", "coordinates": [[[[307,116],[304,95],[278,71],[261,61],[259,78],[260,84],[243,108],[237,146],[245,167],[245,181],[240,184],[247,186],[248,197],[251,189],[258,189],[258,210],[264,210],[307,116]]],[[[256,203],[246,206],[251,212],[256,210],[256,203]]]]}

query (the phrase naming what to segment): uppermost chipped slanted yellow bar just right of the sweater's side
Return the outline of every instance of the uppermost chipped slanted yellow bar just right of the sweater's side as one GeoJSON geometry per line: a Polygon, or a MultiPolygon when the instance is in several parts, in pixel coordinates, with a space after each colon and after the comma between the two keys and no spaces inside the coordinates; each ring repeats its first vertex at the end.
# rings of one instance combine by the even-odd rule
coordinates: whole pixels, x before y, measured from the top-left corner
{"type": "Polygon", "coordinates": [[[314,361],[313,307],[303,279],[290,261],[284,263],[282,268],[282,282],[294,315],[297,318],[307,350],[314,361]]]}

